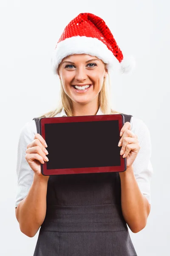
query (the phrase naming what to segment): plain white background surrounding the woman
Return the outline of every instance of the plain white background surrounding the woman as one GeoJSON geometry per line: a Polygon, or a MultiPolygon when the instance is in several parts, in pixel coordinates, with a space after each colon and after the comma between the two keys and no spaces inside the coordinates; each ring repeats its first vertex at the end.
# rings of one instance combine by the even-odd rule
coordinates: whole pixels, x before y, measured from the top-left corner
{"type": "Polygon", "coordinates": [[[54,109],[59,79],[51,53],[79,13],[105,20],[123,54],[136,58],[132,75],[111,74],[112,105],[150,130],[153,178],[147,226],[130,236],[138,256],[168,256],[170,241],[170,3],[160,0],[8,0],[0,2],[0,255],[31,256],[38,233],[21,233],[15,217],[20,129],[54,109]]]}

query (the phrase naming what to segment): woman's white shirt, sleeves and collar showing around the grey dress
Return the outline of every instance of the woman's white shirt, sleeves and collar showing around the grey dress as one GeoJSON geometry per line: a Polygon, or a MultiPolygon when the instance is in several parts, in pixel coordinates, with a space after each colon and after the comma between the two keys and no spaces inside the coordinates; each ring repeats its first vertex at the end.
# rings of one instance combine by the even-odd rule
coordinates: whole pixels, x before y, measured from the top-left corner
{"type": "MultiPolygon", "coordinates": [[[[96,115],[103,115],[101,109],[96,115]]],[[[64,108],[55,117],[67,116],[64,108]]],[[[133,172],[136,177],[140,191],[151,204],[150,196],[150,181],[153,175],[153,168],[150,162],[151,156],[151,141],[150,132],[147,126],[141,119],[135,118],[134,116],[130,120],[131,131],[137,135],[140,145],[139,153],[133,162],[133,172]]],[[[37,127],[34,120],[27,122],[20,131],[20,137],[17,148],[17,194],[15,207],[26,198],[29,189],[33,183],[34,172],[30,168],[26,161],[26,149],[27,145],[34,140],[34,136],[37,133],[37,127]]]]}

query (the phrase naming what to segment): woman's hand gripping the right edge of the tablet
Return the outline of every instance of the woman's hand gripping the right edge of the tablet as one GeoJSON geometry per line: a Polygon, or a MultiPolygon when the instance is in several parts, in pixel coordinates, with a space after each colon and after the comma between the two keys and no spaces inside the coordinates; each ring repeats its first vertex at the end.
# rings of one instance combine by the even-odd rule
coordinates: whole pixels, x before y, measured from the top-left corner
{"type": "Polygon", "coordinates": [[[122,145],[120,154],[123,158],[127,157],[127,169],[130,169],[140,150],[137,135],[131,131],[130,122],[125,122],[120,130],[120,136],[122,136],[118,144],[119,147],[122,145]]]}

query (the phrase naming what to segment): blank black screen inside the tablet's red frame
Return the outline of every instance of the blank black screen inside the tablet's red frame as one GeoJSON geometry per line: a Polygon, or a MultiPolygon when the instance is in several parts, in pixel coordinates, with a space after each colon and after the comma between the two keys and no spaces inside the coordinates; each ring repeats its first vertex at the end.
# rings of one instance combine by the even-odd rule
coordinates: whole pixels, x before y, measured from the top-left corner
{"type": "Polygon", "coordinates": [[[119,121],[45,124],[47,169],[120,166],[119,121]]]}

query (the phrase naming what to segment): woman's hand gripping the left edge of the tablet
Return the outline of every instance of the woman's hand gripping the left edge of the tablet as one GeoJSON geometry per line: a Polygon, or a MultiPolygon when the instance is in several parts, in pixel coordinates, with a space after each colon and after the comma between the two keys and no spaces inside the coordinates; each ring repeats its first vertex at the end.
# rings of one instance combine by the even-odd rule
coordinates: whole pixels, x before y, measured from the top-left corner
{"type": "Polygon", "coordinates": [[[41,163],[44,164],[44,161],[48,161],[46,154],[48,154],[48,151],[45,149],[45,140],[37,133],[35,134],[34,140],[27,146],[26,160],[34,171],[34,175],[44,180],[48,180],[49,178],[49,176],[42,175],[41,173],[41,163]]]}

